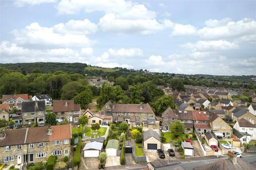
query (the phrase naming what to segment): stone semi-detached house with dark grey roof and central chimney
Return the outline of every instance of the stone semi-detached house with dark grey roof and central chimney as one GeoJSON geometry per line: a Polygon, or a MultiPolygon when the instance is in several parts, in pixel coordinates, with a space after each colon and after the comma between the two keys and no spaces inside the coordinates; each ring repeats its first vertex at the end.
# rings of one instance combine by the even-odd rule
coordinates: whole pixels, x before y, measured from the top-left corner
{"type": "Polygon", "coordinates": [[[31,126],[35,122],[38,126],[44,126],[46,111],[43,100],[23,101],[21,113],[23,126],[31,126]]]}

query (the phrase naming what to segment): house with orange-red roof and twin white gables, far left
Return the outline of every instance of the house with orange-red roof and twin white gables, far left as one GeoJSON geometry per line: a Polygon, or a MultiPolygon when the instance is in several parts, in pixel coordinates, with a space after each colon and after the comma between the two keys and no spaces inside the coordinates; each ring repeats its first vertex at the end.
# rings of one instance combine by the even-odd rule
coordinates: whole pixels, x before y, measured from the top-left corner
{"type": "Polygon", "coordinates": [[[13,107],[16,107],[18,110],[21,110],[21,103],[23,101],[31,101],[32,96],[28,94],[18,94],[18,95],[3,95],[3,104],[9,104],[9,110],[13,107]]]}

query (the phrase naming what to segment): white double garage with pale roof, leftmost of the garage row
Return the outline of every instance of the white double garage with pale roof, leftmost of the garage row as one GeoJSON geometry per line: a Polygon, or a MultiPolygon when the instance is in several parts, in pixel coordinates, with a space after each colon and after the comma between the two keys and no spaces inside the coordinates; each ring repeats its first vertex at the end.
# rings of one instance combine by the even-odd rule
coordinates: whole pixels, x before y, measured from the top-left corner
{"type": "Polygon", "coordinates": [[[84,157],[99,157],[102,150],[103,143],[101,142],[89,142],[83,148],[84,157]]]}

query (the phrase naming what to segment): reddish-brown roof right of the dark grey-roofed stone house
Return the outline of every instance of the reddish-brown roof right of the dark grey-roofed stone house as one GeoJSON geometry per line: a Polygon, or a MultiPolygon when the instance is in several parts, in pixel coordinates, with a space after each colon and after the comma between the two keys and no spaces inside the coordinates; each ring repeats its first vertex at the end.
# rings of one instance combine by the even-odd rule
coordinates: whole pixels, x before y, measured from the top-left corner
{"type": "Polygon", "coordinates": [[[53,112],[80,111],[80,105],[75,105],[74,100],[53,100],[53,112]]]}

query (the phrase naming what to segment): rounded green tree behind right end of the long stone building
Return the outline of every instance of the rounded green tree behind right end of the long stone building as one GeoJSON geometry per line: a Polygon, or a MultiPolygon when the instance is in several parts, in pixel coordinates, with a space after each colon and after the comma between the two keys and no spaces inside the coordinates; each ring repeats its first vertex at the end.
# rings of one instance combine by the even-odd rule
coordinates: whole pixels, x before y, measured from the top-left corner
{"type": "Polygon", "coordinates": [[[173,97],[169,95],[164,95],[156,100],[154,103],[155,112],[161,115],[168,107],[172,109],[176,108],[173,97]]]}

